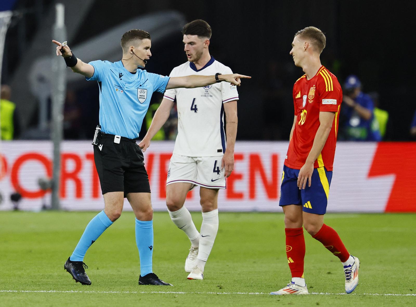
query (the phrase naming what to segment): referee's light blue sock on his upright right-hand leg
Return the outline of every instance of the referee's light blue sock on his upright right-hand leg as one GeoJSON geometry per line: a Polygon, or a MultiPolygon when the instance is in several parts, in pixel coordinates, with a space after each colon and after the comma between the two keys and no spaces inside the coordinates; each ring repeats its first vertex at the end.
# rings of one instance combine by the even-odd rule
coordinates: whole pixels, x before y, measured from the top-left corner
{"type": "Polygon", "coordinates": [[[139,249],[140,275],[144,276],[153,272],[153,220],[136,218],[136,244],[139,249]]]}

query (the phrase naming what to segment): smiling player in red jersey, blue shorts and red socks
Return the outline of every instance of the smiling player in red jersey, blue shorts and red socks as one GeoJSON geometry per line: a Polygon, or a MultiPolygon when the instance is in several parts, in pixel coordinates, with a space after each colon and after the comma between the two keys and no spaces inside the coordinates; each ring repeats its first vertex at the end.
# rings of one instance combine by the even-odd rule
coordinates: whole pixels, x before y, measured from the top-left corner
{"type": "Polygon", "coordinates": [[[283,166],[280,206],[285,213],[286,254],[291,282],[271,294],[308,294],[304,277],[303,228],[341,260],[345,291],[358,285],[359,260],[349,254],[337,232],[324,224],[332,179],[342,89],[321,65],[324,33],[306,27],[295,34],[290,54],[305,74],[293,86],[295,118],[283,166]]]}

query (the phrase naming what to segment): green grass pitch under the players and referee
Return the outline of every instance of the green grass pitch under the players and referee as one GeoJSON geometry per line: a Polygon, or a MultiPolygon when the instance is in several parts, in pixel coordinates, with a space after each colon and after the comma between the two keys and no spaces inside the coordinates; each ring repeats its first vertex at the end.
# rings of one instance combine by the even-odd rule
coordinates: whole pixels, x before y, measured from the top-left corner
{"type": "MultiPolygon", "coordinates": [[[[1,306],[406,306],[416,296],[414,214],[327,214],[347,249],[361,261],[354,295],[277,296],[290,271],[283,215],[220,213],[220,228],[205,269],[205,280],[187,280],[183,270],[190,246],[167,213],[154,214],[154,272],[174,287],[139,286],[134,215],[125,212],[87,252],[91,286],[64,271],[92,212],[0,212],[1,306]],[[16,290],[17,292],[2,292],[16,290]],[[20,292],[24,290],[94,293],[20,292]],[[116,291],[118,293],[97,293],[116,291]],[[140,293],[140,292],[146,293],[140,293]],[[147,293],[152,291],[186,293],[147,293]],[[124,292],[124,293],[123,293],[124,292]],[[137,293],[134,293],[137,292],[137,293]],[[193,293],[190,293],[193,292],[193,293]],[[204,293],[195,293],[204,292],[204,293]],[[262,292],[265,294],[210,294],[262,292]]],[[[193,213],[199,228],[202,217],[193,213]]],[[[310,292],[344,292],[338,258],[305,232],[305,277],[310,292]]]]}

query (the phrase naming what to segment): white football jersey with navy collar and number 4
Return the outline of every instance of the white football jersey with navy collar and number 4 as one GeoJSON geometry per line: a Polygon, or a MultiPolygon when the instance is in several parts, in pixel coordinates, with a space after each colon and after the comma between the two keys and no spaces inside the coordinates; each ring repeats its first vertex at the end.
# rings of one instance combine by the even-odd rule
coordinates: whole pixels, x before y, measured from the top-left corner
{"type": "MultiPolygon", "coordinates": [[[[201,69],[186,62],[172,69],[169,77],[192,74],[210,76],[217,72],[232,74],[227,67],[211,57],[201,69]]],[[[173,154],[188,157],[222,156],[225,152],[223,104],[238,100],[237,87],[228,82],[219,82],[194,89],[168,89],[164,97],[176,98],[178,109],[178,136],[173,154]]]]}

